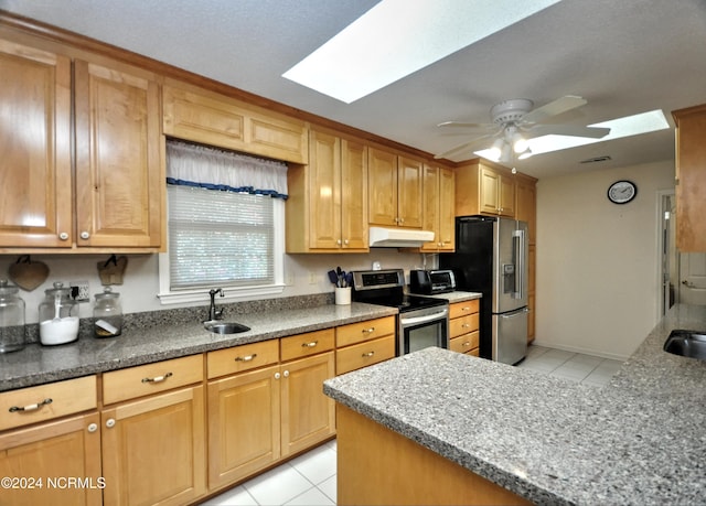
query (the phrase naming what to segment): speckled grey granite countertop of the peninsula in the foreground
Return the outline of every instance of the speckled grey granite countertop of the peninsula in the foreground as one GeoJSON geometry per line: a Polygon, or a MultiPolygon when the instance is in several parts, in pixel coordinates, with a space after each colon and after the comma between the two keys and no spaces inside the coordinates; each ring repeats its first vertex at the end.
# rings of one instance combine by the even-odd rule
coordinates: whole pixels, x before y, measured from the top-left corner
{"type": "Polygon", "coordinates": [[[673,308],[602,388],[427,348],[324,391],[536,504],[703,504],[706,362],[663,352],[673,329],[706,308],[673,308]]]}

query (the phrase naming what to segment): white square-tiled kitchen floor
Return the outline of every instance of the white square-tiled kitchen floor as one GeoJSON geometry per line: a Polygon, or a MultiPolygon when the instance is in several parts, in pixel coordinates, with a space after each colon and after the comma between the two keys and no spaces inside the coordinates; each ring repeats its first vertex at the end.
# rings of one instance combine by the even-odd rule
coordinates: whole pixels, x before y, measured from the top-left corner
{"type": "MultiPolygon", "coordinates": [[[[622,365],[619,360],[531,346],[518,367],[559,376],[577,383],[606,385],[622,365]]],[[[207,506],[334,505],[335,440],[279,467],[224,492],[207,506]]]]}

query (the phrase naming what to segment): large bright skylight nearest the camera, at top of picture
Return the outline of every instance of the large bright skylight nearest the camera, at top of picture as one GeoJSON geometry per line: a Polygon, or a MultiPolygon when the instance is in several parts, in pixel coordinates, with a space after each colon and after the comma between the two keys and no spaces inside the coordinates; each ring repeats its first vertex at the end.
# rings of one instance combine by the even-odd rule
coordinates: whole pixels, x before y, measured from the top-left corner
{"type": "Polygon", "coordinates": [[[559,0],[383,0],[282,77],[351,104],[559,0]]]}

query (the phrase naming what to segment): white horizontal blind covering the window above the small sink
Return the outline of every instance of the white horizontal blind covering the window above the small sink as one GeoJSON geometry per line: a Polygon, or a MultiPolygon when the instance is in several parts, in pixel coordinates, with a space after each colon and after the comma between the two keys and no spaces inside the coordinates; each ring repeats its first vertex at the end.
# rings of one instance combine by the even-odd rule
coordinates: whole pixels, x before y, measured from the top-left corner
{"type": "Polygon", "coordinates": [[[271,284],[269,196],[168,185],[170,288],[271,284]]]}

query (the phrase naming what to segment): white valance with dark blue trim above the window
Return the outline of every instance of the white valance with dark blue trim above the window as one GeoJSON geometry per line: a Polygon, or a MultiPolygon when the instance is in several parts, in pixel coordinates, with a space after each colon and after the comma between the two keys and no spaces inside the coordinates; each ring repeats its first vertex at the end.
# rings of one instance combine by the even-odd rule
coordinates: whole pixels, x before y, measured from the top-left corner
{"type": "Polygon", "coordinates": [[[167,142],[167,184],[287,198],[287,164],[175,140],[167,142]]]}

